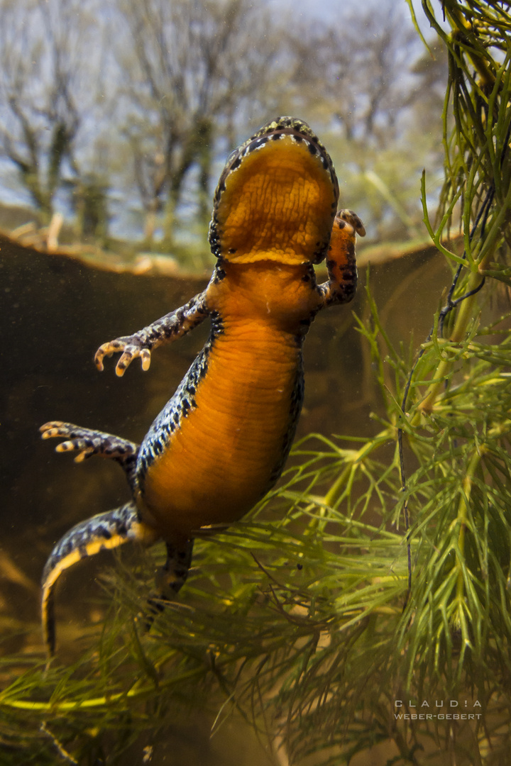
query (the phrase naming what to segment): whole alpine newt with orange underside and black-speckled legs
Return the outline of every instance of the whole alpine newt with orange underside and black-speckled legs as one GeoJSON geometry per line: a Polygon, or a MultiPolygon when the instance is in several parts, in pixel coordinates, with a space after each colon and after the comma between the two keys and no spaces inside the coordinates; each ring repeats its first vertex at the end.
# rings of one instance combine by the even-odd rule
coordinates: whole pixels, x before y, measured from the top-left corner
{"type": "Polygon", "coordinates": [[[195,532],[249,511],[280,476],[303,401],[303,339],[316,313],[352,300],[360,219],[337,212],[339,185],[326,149],[306,123],[280,117],[229,156],[215,191],[209,243],[217,258],[204,292],[132,336],[98,349],[147,370],[152,349],[208,318],[211,333],[142,444],[52,421],[44,439],[80,462],[108,457],[132,499],[74,526],[57,542],[42,579],[42,621],[54,651],[54,586],[76,561],[128,540],[163,539],[162,597],[185,582],[195,532]],[[313,265],[326,259],[328,281],[313,265]]]}

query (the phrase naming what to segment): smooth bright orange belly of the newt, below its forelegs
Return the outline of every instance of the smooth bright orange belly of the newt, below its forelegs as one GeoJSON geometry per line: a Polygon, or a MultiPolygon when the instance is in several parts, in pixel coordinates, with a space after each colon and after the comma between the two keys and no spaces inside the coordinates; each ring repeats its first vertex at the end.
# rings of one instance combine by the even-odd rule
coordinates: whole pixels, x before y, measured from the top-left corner
{"type": "Polygon", "coordinates": [[[299,364],[293,337],[264,326],[244,327],[237,339],[218,336],[197,407],[146,473],[143,503],[163,538],[240,519],[270,488],[299,364]]]}

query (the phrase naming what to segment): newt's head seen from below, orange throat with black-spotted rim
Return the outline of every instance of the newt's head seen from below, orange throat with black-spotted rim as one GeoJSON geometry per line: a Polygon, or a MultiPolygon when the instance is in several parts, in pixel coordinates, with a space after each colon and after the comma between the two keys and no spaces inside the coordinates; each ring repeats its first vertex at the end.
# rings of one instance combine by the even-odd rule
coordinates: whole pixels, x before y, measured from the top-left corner
{"type": "Polygon", "coordinates": [[[215,191],[211,250],[233,264],[319,264],[338,199],[332,160],[313,130],[279,117],[228,157],[215,191]]]}

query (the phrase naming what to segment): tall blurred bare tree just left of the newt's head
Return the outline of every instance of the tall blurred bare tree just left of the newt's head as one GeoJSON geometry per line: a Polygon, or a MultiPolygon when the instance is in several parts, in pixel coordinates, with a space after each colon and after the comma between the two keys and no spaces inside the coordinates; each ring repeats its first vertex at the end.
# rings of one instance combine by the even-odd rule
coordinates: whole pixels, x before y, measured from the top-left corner
{"type": "Polygon", "coordinates": [[[168,237],[192,165],[206,209],[212,148],[232,116],[257,100],[275,45],[264,5],[251,0],[120,0],[134,56],[119,61],[129,102],[126,135],[150,238],[165,206],[168,237]],[[257,40],[257,45],[254,45],[257,40]]]}

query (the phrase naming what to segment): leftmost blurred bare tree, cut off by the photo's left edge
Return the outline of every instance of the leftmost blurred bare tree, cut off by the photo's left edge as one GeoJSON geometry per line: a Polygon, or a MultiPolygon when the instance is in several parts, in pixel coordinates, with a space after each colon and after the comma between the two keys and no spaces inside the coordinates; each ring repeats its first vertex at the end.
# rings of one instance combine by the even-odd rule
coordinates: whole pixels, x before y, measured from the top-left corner
{"type": "Polygon", "coordinates": [[[94,23],[78,0],[0,0],[0,152],[47,221],[64,172],[79,175],[94,23]]]}

